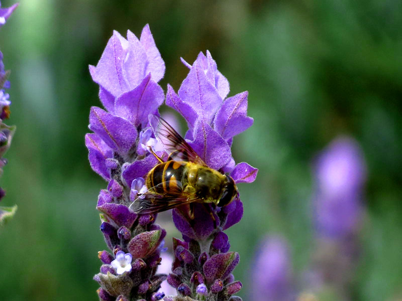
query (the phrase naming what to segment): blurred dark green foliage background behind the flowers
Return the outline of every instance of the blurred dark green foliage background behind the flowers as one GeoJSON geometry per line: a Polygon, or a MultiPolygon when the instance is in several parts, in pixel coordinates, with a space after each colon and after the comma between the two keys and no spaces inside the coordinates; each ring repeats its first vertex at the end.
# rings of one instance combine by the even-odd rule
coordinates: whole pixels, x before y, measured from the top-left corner
{"type": "MultiPolygon", "coordinates": [[[[3,0],[9,7],[14,1],[3,0]]],[[[231,84],[249,91],[254,125],[235,138],[237,162],[259,168],[240,185],[244,218],[227,231],[247,300],[255,247],[267,233],[290,244],[294,274],[314,248],[311,163],[334,137],[361,144],[366,214],[353,300],[402,294],[402,2],[399,0],[22,0],[0,29],[11,69],[8,124],[17,133],[0,186],[18,204],[0,232],[0,299],[96,300],[92,276],[105,249],[95,210],[106,183],[89,167],[84,134],[100,106],[88,64],[113,30],[149,23],[177,90],[209,49],[231,84]]],[[[353,272],[353,271],[351,271],[353,272]]]]}

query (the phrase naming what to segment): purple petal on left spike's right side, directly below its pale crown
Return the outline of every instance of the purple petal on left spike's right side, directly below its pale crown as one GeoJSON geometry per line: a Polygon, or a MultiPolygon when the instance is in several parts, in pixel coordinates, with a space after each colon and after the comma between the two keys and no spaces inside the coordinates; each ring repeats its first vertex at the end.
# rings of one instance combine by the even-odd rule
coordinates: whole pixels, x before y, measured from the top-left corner
{"type": "Polygon", "coordinates": [[[120,95],[115,102],[115,112],[136,127],[144,128],[148,123],[148,115],[155,113],[163,103],[162,88],[148,74],[133,90],[120,95]]]}

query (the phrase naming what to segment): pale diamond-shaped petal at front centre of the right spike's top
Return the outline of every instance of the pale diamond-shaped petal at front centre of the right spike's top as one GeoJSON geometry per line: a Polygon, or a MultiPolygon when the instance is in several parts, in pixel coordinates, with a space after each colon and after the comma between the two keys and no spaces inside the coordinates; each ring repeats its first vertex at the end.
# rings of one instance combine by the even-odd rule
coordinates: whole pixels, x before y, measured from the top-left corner
{"type": "Polygon", "coordinates": [[[187,77],[183,80],[178,95],[181,100],[190,105],[199,118],[211,124],[222,104],[215,86],[208,80],[203,68],[197,61],[191,67],[187,77]]]}

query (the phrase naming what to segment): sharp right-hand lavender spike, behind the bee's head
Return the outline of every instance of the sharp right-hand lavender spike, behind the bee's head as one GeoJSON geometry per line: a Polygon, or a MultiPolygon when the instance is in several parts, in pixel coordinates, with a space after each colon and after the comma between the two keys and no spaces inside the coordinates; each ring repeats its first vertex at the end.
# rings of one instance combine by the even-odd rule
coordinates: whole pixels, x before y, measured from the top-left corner
{"type": "MultiPolygon", "coordinates": [[[[183,63],[190,71],[177,94],[168,85],[166,104],[187,121],[185,138],[209,167],[229,174],[235,183],[253,182],[257,169],[244,162],[236,165],[230,149],[233,136],[253,123],[247,116],[248,93],[226,98],[229,82],[218,71],[209,51],[207,56],[200,53],[192,65],[183,63]]],[[[232,274],[239,254],[228,252],[230,243],[222,231],[242,218],[240,197],[222,208],[206,210],[202,204],[194,207],[194,219],[182,210],[173,210],[173,222],[184,241],[173,240],[173,273],[167,278],[179,296],[165,300],[179,300],[180,296],[238,300],[239,297],[231,296],[242,286],[232,274]]]]}

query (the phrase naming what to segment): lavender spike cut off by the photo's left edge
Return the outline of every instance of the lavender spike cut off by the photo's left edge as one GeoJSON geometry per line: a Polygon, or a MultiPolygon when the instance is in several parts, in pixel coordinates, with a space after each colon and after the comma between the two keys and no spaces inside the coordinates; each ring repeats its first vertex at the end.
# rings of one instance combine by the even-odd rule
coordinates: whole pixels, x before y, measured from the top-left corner
{"type": "MultiPolygon", "coordinates": [[[[10,8],[2,8],[0,3],[0,28],[6,24],[7,19],[18,7],[18,4],[13,5],[10,8]]],[[[5,70],[3,63],[3,53],[0,51],[0,176],[3,175],[3,167],[7,164],[7,159],[3,158],[7,150],[10,148],[11,140],[16,130],[15,126],[9,126],[3,121],[10,117],[10,95],[6,92],[6,89],[10,88],[10,82],[8,77],[10,70],[5,70]]],[[[6,195],[5,190],[0,187],[0,200],[6,195]]],[[[2,207],[0,206],[0,226],[4,224],[8,219],[13,217],[17,210],[17,206],[14,207],[2,207]]]]}

